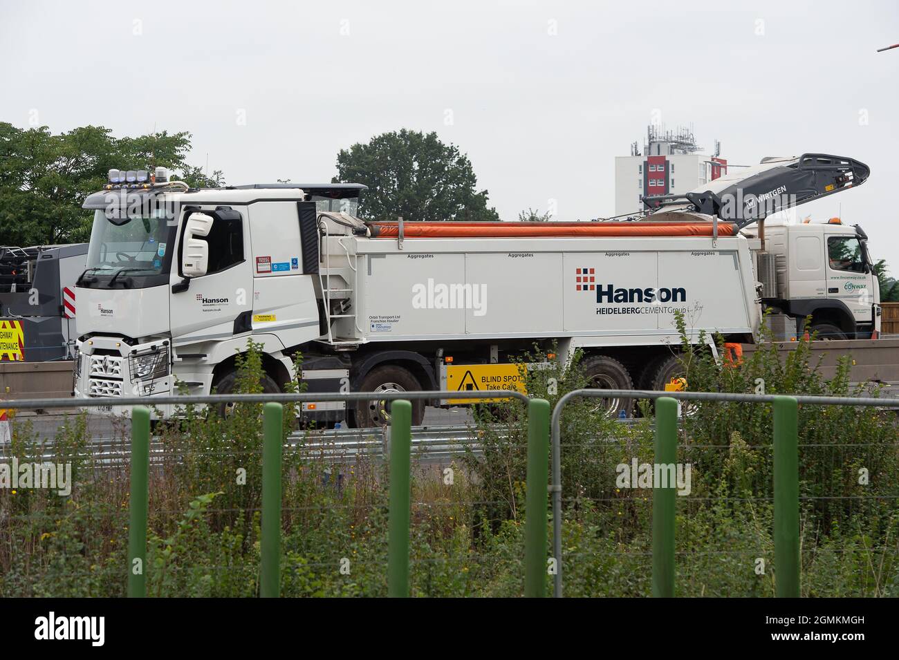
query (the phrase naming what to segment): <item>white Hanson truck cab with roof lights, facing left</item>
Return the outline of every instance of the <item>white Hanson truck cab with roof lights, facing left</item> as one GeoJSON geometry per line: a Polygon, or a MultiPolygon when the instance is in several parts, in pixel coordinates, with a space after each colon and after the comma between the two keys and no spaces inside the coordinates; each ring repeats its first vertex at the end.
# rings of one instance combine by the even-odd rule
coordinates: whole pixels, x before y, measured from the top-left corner
{"type": "Polygon", "coordinates": [[[364,188],[189,189],[165,168],[111,171],[84,204],[94,220],[76,281],[76,397],[229,392],[250,338],[263,391],[296,379],[289,349],[322,334],[317,213],[352,212],[364,188]]]}

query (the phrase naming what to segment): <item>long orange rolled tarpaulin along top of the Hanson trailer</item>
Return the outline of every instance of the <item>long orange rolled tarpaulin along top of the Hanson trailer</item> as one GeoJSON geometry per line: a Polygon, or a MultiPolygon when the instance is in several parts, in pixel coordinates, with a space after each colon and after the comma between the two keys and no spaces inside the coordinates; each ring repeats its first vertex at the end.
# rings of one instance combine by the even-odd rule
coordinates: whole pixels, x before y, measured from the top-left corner
{"type": "MultiPolygon", "coordinates": [[[[374,238],[397,238],[397,223],[369,223],[374,238]]],[[[733,236],[734,225],[718,223],[719,236],[733,236]]],[[[503,238],[562,236],[711,236],[712,223],[405,223],[405,238],[503,238]]]]}

